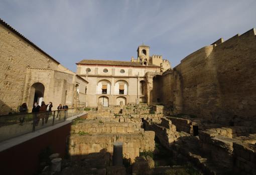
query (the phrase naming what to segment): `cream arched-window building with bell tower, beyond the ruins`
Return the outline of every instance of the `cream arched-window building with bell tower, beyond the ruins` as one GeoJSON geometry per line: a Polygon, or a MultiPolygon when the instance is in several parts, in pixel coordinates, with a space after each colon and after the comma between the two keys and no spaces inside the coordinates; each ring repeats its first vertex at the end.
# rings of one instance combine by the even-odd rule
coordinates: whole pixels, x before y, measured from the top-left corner
{"type": "MultiPolygon", "coordinates": [[[[138,59],[129,61],[82,60],[77,64],[77,74],[87,82],[85,90],[88,107],[104,107],[109,105],[138,104],[148,102],[147,77],[148,72],[161,74],[170,68],[169,61],[157,58],[158,65],[152,64],[149,56],[149,46],[138,47],[138,59]],[[161,62],[162,60],[162,62],[161,62]]],[[[153,58],[153,59],[154,59],[153,58]]],[[[156,61],[155,61],[156,62],[156,61]]]]}

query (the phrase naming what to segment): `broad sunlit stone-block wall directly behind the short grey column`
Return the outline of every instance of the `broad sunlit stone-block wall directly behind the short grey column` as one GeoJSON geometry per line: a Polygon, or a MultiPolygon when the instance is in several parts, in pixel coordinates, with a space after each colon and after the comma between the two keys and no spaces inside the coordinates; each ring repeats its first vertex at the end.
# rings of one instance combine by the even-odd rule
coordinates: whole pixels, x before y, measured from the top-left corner
{"type": "Polygon", "coordinates": [[[133,162],[140,152],[154,151],[154,138],[155,133],[153,131],[71,135],[68,151],[71,158],[83,158],[84,155],[99,152],[103,148],[112,154],[113,143],[121,141],[123,143],[123,157],[131,158],[133,162]]]}

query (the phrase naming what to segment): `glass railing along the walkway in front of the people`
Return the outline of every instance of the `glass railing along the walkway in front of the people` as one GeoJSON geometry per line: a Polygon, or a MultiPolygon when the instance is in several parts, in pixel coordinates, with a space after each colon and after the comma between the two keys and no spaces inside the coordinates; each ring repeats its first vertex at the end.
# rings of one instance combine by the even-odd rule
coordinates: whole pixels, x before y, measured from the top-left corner
{"type": "Polygon", "coordinates": [[[84,107],[47,112],[23,113],[0,116],[0,141],[64,122],[67,118],[83,113],[84,107]]]}

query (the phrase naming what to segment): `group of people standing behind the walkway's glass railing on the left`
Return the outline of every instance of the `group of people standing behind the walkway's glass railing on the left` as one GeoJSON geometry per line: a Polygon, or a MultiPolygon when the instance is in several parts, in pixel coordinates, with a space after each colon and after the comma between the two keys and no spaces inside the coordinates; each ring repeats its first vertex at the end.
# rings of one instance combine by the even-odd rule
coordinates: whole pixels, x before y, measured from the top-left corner
{"type": "MultiPolygon", "coordinates": [[[[53,107],[52,102],[49,102],[46,105],[45,102],[42,101],[41,106],[38,105],[37,102],[34,103],[34,106],[33,106],[33,109],[32,109],[32,113],[36,114],[36,115],[34,115],[34,122],[35,122],[36,125],[38,125],[38,123],[40,121],[40,118],[42,118],[42,125],[44,125],[44,123],[47,123],[49,116],[52,114],[52,107],[53,107]]],[[[67,114],[68,106],[66,104],[64,104],[63,106],[61,104],[59,104],[57,109],[58,109],[57,117],[59,116],[61,109],[65,110],[65,115],[66,115],[67,114]]],[[[27,106],[27,104],[23,103],[20,106],[19,111],[20,111],[21,114],[28,113],[28,106],[27,106]]],[[[20,117],[21,125],[23,125],[24,120],[25,120],[25,116],[21,115],[21,117],[20,117]]]]}

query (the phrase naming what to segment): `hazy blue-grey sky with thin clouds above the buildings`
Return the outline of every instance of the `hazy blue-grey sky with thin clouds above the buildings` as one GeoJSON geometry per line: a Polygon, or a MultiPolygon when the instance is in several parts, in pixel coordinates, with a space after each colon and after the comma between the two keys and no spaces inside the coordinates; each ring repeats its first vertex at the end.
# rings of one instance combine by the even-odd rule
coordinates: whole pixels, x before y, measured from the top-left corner
{"type": "Polygon", "coordinates": [[[76,71],[82,59],[130,61],[144,42],[172,67],[256,27],[255,0],[0,0],[0,18],[76,71]]]}

